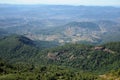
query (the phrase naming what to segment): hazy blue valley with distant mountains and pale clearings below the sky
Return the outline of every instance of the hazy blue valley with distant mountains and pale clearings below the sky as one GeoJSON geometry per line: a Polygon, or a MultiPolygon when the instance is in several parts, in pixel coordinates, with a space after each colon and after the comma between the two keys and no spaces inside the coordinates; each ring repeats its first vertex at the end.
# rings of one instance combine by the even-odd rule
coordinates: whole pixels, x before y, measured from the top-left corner
{"type": "Polygon", "coordinates": [[[60,44],[119,40],[119,7],[0,5],[0,9],[4,9],[0,12],[1,29],[32,40],[60,44]]]}

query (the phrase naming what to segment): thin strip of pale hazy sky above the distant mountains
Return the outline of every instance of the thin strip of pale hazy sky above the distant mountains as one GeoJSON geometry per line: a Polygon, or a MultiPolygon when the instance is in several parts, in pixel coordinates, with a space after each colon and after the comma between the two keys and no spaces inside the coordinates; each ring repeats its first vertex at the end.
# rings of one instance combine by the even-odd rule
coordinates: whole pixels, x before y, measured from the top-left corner
{"type": "Polygon", "coordinates": [[[120,0],[0,0],[0,3],[120,6],[120,0]]]}

